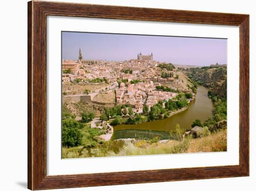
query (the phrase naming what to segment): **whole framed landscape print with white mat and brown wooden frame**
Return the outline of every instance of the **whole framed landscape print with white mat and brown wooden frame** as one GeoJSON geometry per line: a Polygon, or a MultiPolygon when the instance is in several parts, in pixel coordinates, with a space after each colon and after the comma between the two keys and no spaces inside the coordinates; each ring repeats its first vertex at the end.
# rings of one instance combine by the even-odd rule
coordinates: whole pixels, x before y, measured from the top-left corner
{"type": "Polygon", "coordinates": [[[28,188],[249,176],[249,15],[28,2],[28,188]]]}

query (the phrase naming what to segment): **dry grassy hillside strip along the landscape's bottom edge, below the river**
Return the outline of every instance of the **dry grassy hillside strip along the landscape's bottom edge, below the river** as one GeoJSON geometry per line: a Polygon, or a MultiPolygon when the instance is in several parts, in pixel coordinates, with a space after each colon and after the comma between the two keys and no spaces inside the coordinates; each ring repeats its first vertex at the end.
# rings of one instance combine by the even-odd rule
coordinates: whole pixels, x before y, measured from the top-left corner
{"type": "Polygon", "coordinates": [[[175,154],[188,152],[227,151],[227,130],[221,129],[202,138],[187,136],[182,140],[169,139],[159,142],[159,138],[150,140],[118,140],[105,142],[101,147],[63,148],[64,158],[133,156],[152,154],[175,154]]]}

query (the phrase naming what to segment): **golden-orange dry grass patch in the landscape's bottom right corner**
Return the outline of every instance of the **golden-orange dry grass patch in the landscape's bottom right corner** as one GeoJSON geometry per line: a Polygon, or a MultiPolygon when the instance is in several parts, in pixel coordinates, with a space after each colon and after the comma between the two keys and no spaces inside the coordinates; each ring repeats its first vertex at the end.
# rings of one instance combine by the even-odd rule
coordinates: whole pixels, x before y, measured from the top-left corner
{"type": "Polygon", "coordinates": [[[227,151],[227,130],[221,130],[207,137],[192,139],[187,152],[227,151]]]}

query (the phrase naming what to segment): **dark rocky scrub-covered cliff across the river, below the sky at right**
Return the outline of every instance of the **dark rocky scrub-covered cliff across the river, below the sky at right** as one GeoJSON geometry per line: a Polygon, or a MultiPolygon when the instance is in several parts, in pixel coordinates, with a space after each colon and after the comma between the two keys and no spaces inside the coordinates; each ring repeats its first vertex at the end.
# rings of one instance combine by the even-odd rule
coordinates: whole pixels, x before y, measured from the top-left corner
{"type": "Polygon", "coordinates": [[[186,74],[201,84],[209,87],[212,93],[218,95],[222,99],[227,97],[227,69],[219,68],[189,68],[186,74]]]}

